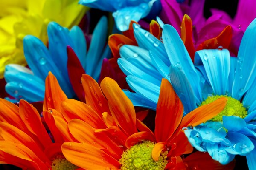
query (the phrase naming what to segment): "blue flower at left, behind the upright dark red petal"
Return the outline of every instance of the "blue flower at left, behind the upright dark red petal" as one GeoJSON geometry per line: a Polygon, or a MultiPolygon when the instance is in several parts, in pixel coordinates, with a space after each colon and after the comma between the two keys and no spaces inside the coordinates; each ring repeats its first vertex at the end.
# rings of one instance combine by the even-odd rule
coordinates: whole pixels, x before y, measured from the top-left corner
{"type": "Polygon", "coordinates": [[[75,93],[67,72],[67,45],[73,48],[86,73],[94,79],[99,79],[102,59],[111,55],[108,45],[105,47],[107,24],[106,17],[99,20],[93,31],[88,51],[84,33],[78,26],[68,30],[58,23],[49,23],[47,27],[49,48],[37,37],[32,35],[24,37],[24,54],[31,70],[21,65],[7,65],[4,73],[7,82],[6,92],[18,100],[42,101],[45,90],[44,80],[51,71],[65,94],[72,98],[75,93]]]}

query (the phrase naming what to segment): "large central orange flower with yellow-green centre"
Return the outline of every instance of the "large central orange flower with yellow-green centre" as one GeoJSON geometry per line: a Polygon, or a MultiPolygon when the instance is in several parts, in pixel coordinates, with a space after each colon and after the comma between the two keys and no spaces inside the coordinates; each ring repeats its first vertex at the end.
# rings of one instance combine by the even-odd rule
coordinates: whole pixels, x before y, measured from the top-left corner
{"type": "Polygon", "coordinates": [[[113,79],[103,79],[100,88],[93,78],[83,75],[86,104],[56,99],[61,89],[52,80],[54,82],[46,87],[56,86],[46,89],[44,113],[51,109],[61,114],[58,119],[55,116],[55,125],[71,141],[62,145],[62,153],[78,167],[87,170],[233,167],[233,164],[222,166],[207,153],[196,152],[182,159],[183,154],[192,152],[182,128],[199,125],[220,113],[225,107],[225,98],[201,106],[182,118],[183,105],[170,83],[163,79],[153,133],[136,118],[134,106],[113,79]],[[58,102],[61,105],[57,105],[58,102]],[[202,157],[204,162],[200,160],[202,157]]]}

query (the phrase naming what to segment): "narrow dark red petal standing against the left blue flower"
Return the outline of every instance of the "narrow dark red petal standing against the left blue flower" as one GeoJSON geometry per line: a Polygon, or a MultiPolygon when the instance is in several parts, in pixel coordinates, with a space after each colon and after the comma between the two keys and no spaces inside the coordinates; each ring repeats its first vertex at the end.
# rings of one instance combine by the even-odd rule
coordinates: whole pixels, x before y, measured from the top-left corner
{"type": "Polygon", "coordinates": [[[67,56],[67,72],[71,85],[79,100],[85,102],[84,89],[81,85],[81,77],[85,74],[84,68],[70,46],[67,46],[67,56]]]}

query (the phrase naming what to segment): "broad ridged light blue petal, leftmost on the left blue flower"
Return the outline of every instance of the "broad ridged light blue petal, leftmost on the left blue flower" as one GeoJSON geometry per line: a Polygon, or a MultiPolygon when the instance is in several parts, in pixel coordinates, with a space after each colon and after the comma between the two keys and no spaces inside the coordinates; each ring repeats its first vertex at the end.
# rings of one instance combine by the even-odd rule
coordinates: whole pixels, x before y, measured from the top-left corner
{"type": "Polygon", "coordinates": [[[25,99],[28,102],[44,100],[44,81],[40,78],[24,72],[6,71],[5,77],[9,79],[6,84],[6,92],[17,99],[25,99]]]}

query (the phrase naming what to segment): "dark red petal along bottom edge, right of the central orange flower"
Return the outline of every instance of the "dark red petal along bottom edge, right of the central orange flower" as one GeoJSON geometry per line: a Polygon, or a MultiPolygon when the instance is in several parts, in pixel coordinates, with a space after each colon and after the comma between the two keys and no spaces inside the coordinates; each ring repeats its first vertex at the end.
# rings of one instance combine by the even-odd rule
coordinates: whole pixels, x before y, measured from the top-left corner
{"type": "Polygon", "coordinates": [[[198,170],[233,170],[235,167],[235,161],[230,162],[227,165],[222,165],[218,161],[212,159],[208,153],[195,152],[183,159],[188,164],[188,167],[194,167],[198,170]]]}

